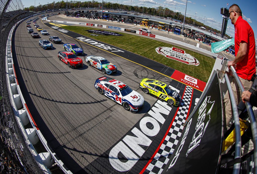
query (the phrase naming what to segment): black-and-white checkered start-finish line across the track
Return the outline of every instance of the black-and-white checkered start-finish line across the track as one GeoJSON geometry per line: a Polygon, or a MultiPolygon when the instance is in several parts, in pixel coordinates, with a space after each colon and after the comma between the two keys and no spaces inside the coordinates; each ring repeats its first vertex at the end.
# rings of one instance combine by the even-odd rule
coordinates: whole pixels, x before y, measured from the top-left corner
{"type": "Polygon", "coordinates": [[[147,166],[144,171],[145,173],[161,173],[168,163],[171,154],[173,153],[176,145],[178,144],[179,138],[183,130],[183,124],[186,121],[189,106],[191,102],[193,88],[186,86],[186,90],[183,96],[183,106],[180,106],[176,117],[172,123],[172,126],[164,139],[164,142],[160,146],[157,154],[154,156],[154,159],[147,166]]]}

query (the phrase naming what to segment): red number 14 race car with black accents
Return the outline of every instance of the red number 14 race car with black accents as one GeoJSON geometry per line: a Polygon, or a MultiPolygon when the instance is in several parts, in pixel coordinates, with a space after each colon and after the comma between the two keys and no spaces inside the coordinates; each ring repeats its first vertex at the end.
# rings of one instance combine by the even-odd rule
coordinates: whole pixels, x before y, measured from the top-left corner
{"type": "Polygon", "coordinates": [[[78,58],[75,54],[70,51],[59,51],[58,52],[59,60],[63,61],[70,68],[79,68],[83,67],[82,59],[78,58]]]}

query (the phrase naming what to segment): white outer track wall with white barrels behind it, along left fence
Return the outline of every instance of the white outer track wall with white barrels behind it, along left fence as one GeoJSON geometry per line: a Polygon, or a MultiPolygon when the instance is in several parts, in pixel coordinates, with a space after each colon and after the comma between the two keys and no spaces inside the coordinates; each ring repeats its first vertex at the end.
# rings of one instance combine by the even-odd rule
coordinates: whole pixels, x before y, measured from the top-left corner
{"type": "Polygon", "coordinates": [[[59,168],[64,173],[72,174],[72,172],[63,164],[63,162],[58,158],[58,156],[52,151],[52,149],[48,147],[47,141],[43,137],[39,128],[36,126],[36,123],[34,122],[33,117],[30,114],[30,111],[23,98],[23,95],[16,77],[14,64],[13,64],[12,38],[14,37],[15,29],[24,20],[39,14],[44,14],[44,13],[48,13],[48,12],[38,13],[32,16],[26,17],[20,20],[18,23],[16,23],[11,29],[8,36],[7,43],[6,43],[6,80],[8,83],[9,94],[10,96],[12,96],[11,101],[12,101],[14,114],[22,130],[23,136],[25,137],[26,143],[29,145],[30,151],[34,155],[42,171],[44,173],[51,173],[48,167],[52,166],[56,162],[59,168]],[[29,123],[33,128],[25,129],[24,125],[27,125],[29,123]],[[33,145],[38,143],[39,140],[41,141],[41,143],[43,144],[47,152],[38,154],[35,151],[35,148],[33,147],[33,145]]]}

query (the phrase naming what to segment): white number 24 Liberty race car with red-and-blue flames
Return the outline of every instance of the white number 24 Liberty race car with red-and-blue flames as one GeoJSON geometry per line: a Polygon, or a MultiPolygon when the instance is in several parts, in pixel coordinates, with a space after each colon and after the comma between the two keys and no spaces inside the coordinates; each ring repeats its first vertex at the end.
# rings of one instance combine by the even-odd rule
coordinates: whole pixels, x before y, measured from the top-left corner
{"type": "Polygon", "coordinates": [[[121,104],[125,110],[136,112],[143,108],[144,97],[126,84],[110,77],[96,79],[95,88],[113,101],[121,104]]]}

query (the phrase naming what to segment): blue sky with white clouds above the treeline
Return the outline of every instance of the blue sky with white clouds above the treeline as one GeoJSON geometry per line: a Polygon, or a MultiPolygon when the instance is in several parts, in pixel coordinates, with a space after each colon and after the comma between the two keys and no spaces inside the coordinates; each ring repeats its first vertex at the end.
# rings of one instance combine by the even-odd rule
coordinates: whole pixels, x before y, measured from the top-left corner
{"type": "MultiPolygon", "coordinates": [[[[40,0],[35,0],[36,6],[38,3],[42,3],[40,0]]],[[[29,1],[29,0],[22,0],[22,3],[25,7],[29,7],[31,5],[34,5],[35,1],[29,1]]],[[[58,0],[56,0],[58,1],[58,0]]],[[[107,2],[113,2],[116,3],[117,1],[113,0],[104,0],[107,2]]],[[[44,1],[47,3],[47,1],[44,1]]],[[[48,1],[50,3],[50,1],[48,1]]],[[[100,1],[99,1],[100,2],[100,1]]],[[[158,7],[162,6],[167,7],[171,10],[175,10],[176,12],[181,12],[182,14],[185,14],[185,8],[186,8],[186,0],[132,0],[132,5],[138,5],[142,6],[143,2],[145,2],[146,7],[158,7]]],[[[131,4],[131,0],[118,0],[118,3],[122,4],[131,4]]],[[[257,1],[256,0],[245,0],[245,1],[223,1],[223,0],[190,0],[187,1],[187,12],[186,16],[195,18],[195,12],[196,14],[196,20],[200,22],[204,22],[205,25],[212,26],[212,28],[221,30],[222,26],[222,15],[220,14],[221,7],[226,7],[227,3],[228,8],[232,4],[237,4],[243,13],[243,19],[247,20],[250,26],[252,27],[254,34],[255,34],[255,42],[257,43],[257,18],[253,15],[256,7],[257,7],[257,1]],[[205,19],[205,20],[204,20],[205,19]]],[[[226,34],[229,36],[234,37],[234,25],[231,24],[231,20],[228,21],[226,34]]]]}

